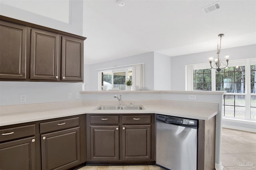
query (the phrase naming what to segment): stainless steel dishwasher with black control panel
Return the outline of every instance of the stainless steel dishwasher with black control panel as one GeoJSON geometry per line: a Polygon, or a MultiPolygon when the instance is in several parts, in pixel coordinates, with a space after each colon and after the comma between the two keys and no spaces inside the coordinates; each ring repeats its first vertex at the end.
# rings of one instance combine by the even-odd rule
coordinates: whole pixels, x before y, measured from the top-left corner
{"type": "Polygon", "coordinates": [[[198,120],[156,115],[156,164],[170,170],[196,170],[198,120]]]}

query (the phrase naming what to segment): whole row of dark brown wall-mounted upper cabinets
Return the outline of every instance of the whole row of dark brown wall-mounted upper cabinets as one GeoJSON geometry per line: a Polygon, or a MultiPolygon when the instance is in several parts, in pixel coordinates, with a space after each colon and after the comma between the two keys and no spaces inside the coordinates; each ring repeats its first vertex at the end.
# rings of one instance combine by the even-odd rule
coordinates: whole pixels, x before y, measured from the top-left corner
{"type": "Polygon", "coordinates": [[[85,39],[0,16],[0,80],[82,82],[85,39]]]}

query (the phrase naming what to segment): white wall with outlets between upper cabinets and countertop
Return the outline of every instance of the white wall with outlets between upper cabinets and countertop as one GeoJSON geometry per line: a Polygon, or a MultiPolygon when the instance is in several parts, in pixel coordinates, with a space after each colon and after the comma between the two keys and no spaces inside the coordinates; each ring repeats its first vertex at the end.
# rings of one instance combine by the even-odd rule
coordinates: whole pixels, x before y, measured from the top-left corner
{"type": "Polygon", "coordinates": [[[79,100],[76,93],[81,90],[82,83],[0,82],[0,106],[79,100]],[[68,93],[71,93],[70,100],[68,93]],[[26,103],[20,103],[21,94],[26,95],[26,103]]]}

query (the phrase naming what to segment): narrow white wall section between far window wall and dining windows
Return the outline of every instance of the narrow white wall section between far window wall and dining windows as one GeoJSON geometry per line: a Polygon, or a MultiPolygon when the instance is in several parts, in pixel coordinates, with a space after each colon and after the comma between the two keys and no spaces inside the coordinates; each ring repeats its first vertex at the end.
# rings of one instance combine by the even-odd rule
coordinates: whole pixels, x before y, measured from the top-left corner
{"type": "Polygon", "coordinates": [[[171,90],[171,57],[154,52],[154,90],[171,90]]]}

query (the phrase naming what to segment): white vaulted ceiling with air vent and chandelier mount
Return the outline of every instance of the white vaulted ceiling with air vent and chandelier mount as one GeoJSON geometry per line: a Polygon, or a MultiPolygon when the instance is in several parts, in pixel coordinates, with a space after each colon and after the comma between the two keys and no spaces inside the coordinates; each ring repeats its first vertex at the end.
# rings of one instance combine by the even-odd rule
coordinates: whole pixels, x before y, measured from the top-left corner
{"type": "Polygon", "coordinates": [[[168,56],[256,44],[256,0],[84,0],[85,63],[150,51],[168,56]]]}

